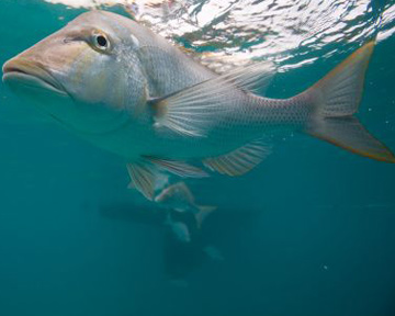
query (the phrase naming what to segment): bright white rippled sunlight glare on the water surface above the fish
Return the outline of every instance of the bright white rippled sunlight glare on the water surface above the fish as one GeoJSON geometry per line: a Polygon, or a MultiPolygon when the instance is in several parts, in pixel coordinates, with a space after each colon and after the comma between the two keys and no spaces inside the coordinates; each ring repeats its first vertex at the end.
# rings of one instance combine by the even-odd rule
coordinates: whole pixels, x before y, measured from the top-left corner
{"type": "Polygon", "coordinates": [[[289,68],[301,63],[301,55],[305,61],[294,67],[314,63],[317,52],[329,57],[339,49],[354,49],[366,38],[380,42],[395,29],[391,1],[45,1],[87,9],[122,5],[162,36],[182,38],[182,45],[242,58],[271,58],[289,68]]]}

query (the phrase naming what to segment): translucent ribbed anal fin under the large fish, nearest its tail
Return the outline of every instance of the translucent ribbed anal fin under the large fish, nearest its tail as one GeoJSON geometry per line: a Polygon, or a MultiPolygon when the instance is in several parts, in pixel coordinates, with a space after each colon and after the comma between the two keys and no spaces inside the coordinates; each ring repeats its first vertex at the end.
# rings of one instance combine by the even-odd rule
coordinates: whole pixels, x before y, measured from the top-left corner
{"type": "Polygon", "coordinates": [[[271,147],[263,140],[248,143],[236,150],[213,158],[206,158],[203,163],[210,169],[230,177],[241,176],[258,166],[269,154],[271,147]]]}

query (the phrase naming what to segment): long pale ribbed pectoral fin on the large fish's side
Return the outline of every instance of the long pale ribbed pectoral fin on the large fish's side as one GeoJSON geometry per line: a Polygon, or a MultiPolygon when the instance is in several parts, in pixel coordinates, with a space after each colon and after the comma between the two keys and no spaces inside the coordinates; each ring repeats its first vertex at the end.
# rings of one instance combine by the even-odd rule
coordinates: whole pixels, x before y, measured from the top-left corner
{"type": "Polygon", "coordinates": [[[257,83],[267,84],[273,71],[272,63],[260,61],[234,69],[170,95],[153,99],[148,104],[154,111],[155,125],[165,126],[184,136],[206,137],[207,131],[216,123],[218,115],[229,111],[230,101],[244,102],[245,93],[257,88],[257,83]]]}

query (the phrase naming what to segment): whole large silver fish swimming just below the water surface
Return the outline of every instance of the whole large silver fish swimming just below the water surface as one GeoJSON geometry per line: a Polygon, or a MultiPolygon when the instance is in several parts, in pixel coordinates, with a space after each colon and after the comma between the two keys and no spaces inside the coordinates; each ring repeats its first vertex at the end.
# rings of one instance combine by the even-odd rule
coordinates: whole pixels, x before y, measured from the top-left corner
{"type": "Polygon", "coordinates": [[[306,91],[283,100],[255,94],[270,63],[223,75],[124,16],[92,11],[7,61],[3,80],[41,101],[79,136],[125,157],[134,187],[153,199],[156,174],[239,176],[271,148],[268,135],[304,132],[361,156],[394,155],[352,115],[369,42],[306,91]],[[196,167],[200,163],[200,167],[196,167]]]}

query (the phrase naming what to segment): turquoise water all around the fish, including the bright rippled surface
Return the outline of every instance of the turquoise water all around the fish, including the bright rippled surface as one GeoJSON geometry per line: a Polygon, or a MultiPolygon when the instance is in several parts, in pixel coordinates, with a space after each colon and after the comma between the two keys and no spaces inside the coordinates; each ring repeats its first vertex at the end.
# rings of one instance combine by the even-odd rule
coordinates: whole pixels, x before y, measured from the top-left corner
{"type": "MultiPolygon", "coordinates": [[[[275,98],[376,36],[359,117],[395,149],[395,4],[224,2],[138,18],[196,50],[279,61],[275,98]]],[[[87,10],[2,0],[0,64],[87,10]]],[[[393,165],[285,137],[241,178],[188,182],[218,210],[180,245],[158,206],[126,189],[121,158],[27,103],[0,84],[0,315],[395,315],[393,165]]]]}

